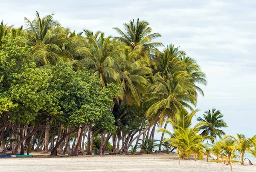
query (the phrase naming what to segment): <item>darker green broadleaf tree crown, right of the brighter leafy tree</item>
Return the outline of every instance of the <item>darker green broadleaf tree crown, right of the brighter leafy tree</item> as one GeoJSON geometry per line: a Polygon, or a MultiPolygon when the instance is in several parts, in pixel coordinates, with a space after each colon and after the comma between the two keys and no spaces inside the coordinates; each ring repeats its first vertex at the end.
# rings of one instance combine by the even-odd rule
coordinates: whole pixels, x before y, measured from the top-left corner
{"type": "MultiPolygon", "coordinates": [[[[58,106],[61,107],[58,119],[63,126],[72,124],[79,127],[97,120],[111,119],[113,115],[109,109],[113,106],[112,100],[117,94],[113,84],[101,88],[96,77],[83,70],[74,71],[63,62],[53,66],[52,75],[50,89],[57,96],[58,106]]],[[[56,155],[56,149],[65,137],[67,135],[63,135],[56,143],[51,155],[56,155]]]]}

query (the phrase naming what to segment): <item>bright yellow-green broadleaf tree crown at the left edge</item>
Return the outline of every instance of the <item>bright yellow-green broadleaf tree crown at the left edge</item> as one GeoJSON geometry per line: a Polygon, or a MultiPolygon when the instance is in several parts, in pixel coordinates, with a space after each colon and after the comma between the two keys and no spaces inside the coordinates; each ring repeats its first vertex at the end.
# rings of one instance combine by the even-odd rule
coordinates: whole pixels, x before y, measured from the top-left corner
{"type": "Polygon", "coordinates": [[[45,106],[49,71],[35,68],[29,48],[12,36],[2,38],[0,49],[0,99],[9,120],[27,125],[45,106]],[[4,97],[3,97],[4,96],[4,97]],[[4,103],[6,102],[6,103],[4,103]]]}

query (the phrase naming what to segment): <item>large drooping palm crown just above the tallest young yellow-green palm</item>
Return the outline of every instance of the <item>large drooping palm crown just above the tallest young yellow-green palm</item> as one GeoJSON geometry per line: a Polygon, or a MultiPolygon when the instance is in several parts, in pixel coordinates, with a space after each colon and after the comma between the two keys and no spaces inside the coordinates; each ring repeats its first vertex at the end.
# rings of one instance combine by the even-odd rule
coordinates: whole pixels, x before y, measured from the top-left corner
{"type": "Polygon", "coordinates": [[[184,107],[192,110],[190,104],[195,106],[197,101],[196,97],[190,94],[193,89],[191,84],[184,82],[188,78],[186,72],[168,73],[167,78],[166,80],[159,74],[153,76],[154,83],[149,93],[145,94],[149,97],[146,102],[153,103],[145,115],[151,121],[159,118],[160,125],[168,116],[173,118],[175,113],[184,107]]]}

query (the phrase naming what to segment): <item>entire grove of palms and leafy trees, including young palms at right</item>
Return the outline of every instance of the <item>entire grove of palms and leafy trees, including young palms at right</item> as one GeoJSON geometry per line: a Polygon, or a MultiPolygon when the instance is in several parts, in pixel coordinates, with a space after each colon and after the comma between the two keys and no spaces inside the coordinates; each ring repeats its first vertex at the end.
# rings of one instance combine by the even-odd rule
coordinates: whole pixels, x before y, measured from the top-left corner
{"type": "Polygon", "coordinates": [[[199,117],[206,75],[179,47],[154,42],[149,23],[131,20],[103,32],[70,31],[54,14],[25,17],[20,28],[0,24],[0,147],[50,155],[112,151],[177,151],[180,159],[212,153],[221,160],[255,155],[256,137],[225,135],[220,110],[199,117]],[[163,49],[160,51],[160,49],[163,49]],[[173,131],[166,129],[170,124],[173,131]],[[163,126],[163,128],[161,128],[163,126]],[[162,133],[154,139],[156,128],[162,133]],[[164,138],[169,134],[169,138],[164,138]],[[221,138],[221,141],[217,139],[221,138]],[[85,141],[87,139],[87,141],[85,141]],[[112,143],[109,143],[109,141],[112,143]],[[209,143],[213,145],[210,147],[209,143]],[[215,143],[215,144],[214,144],[215,143]]]}

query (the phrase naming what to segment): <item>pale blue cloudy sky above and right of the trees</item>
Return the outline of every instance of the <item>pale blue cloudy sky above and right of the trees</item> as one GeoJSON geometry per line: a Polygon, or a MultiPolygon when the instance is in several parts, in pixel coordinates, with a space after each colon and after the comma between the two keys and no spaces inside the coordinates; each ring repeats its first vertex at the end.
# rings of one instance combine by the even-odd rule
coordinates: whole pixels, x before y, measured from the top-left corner
{"type": "Polygon", "coordinates": [[[180,46],[206,73],[196,118],[215,107],[224,114],[227,135],[256,134],[255,0],[0,0],[0,9],[0,20],[15,27],[24,17],[33,20],[37,10],[41,16],[55,13],[55,20],[76,32],[112,36],[117,35],[113,27],[146,20],[162,34],[155,42],[180,46]]]}

